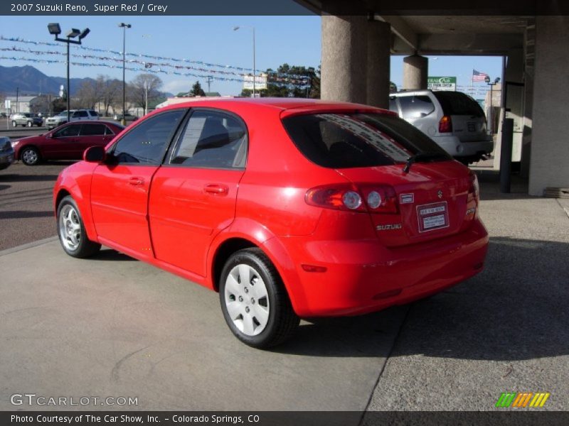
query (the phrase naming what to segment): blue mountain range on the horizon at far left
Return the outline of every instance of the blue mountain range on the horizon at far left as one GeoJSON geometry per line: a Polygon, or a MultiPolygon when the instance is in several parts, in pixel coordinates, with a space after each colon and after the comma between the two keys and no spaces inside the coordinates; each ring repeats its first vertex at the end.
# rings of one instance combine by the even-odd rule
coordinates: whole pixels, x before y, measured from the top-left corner
{"type": "MultiPolygon", "coordinates": [[[[70,78],[71,93],[77,91],[81,83],[92,78],[70,78]]],[[[26,65],[23,67],[0,66],[0,92],[6,95],[15,95],[18,88],[21,96],[33,96],[38,94],[58,94],[59,87],[67,84],[65,77],[49,77],[35,67],[26,65]]]]}

